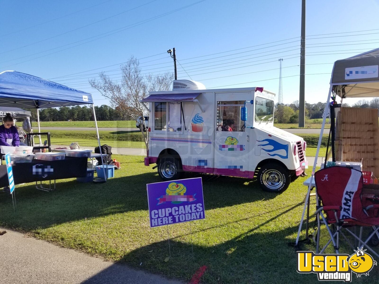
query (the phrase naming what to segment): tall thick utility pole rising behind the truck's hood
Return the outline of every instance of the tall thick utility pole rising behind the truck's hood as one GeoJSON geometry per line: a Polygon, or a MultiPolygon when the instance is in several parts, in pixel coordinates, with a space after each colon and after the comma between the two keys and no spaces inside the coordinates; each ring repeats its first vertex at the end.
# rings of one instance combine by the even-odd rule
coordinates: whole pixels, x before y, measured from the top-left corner
{"type": "Polygon", "coordinates": [[[301,1],[299,127],[305,126],[305,0],[301,1]]]}

